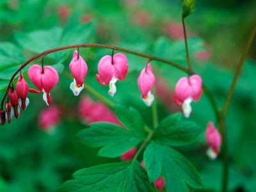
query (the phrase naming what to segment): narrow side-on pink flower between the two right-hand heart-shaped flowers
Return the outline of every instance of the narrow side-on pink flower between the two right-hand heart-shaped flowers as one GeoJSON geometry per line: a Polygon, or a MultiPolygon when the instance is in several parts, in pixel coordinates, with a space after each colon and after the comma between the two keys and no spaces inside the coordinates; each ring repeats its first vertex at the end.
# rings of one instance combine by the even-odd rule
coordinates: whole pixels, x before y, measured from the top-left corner
{"type": "Polygon", "coordinates": [[[151,106],[154,100],[154,95],[150,90],[152,89],[155,80],[156,78],[152,72],[151,65],[148,63],[147,66],[141,70],[140,76],[138,77],[138,86],[142,95],[141,97],[147,106],[151,106]]]}

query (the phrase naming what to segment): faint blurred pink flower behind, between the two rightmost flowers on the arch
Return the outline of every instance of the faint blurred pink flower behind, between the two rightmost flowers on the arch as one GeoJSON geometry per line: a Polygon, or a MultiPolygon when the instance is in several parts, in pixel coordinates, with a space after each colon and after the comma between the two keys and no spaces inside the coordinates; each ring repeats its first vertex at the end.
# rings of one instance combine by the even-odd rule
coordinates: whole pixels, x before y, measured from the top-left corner
{"type": "Polygon", "coordinates": [[[172,88],[169,86],[169,84],[166,83],[163,77],[158,76],[156,78],[155,90],[157,99],[161,100],[161,102],[163,102],[164,106],[168,110],[172,112],[180,111],[179,106],[175,103],[173,99],[172,88]]]}

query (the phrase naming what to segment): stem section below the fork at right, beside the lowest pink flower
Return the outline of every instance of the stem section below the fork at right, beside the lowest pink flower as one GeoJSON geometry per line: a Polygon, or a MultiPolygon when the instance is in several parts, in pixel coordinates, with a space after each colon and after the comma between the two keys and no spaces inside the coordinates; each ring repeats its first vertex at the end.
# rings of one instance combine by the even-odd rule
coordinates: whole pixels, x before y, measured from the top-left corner
{"type": "Polygon", "coordinates": [[[219,118],[218,126],[220,127],[220,132],[222,136],[222,154],[223,154],[223,169],[222,169],[222,184],[221,191],[227,191],[227,179],[228,179],[228,152],[227,152],[227,134],[225,121],[223,118],[219,118]]]}

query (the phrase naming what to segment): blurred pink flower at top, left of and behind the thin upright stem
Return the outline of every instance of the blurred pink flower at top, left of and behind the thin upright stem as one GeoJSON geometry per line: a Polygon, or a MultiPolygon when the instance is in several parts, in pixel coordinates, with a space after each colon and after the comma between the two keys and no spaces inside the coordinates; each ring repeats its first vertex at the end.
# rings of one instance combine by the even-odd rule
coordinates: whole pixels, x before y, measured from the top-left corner
{"type": "MultiPolygon", "coordinates": [[[[162,31],[165,35],[170,36],[173,40],[181,40],[184,38],[184,31],[182,23],[165,21],[162,24],[162,31]]],[[[187,36],[193,36],[191,32],[186,28],[187,36]]]]}

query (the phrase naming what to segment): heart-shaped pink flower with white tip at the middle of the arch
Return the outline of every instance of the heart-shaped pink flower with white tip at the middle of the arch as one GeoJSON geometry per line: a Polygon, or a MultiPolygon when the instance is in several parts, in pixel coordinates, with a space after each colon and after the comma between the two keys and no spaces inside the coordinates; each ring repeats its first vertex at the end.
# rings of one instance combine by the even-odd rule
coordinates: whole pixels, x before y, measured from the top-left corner
{"type": "Polygon", "coordinates": [[[116,93],[115,83],[117,80],[124,80],[128,72],[127,58],[122,53],[116,53],[112,57],[109,55],[100,59],[98,65],[99,75],[96,79],[102,85],[109,84],[109,95],[114,96],[116,93]]]}

